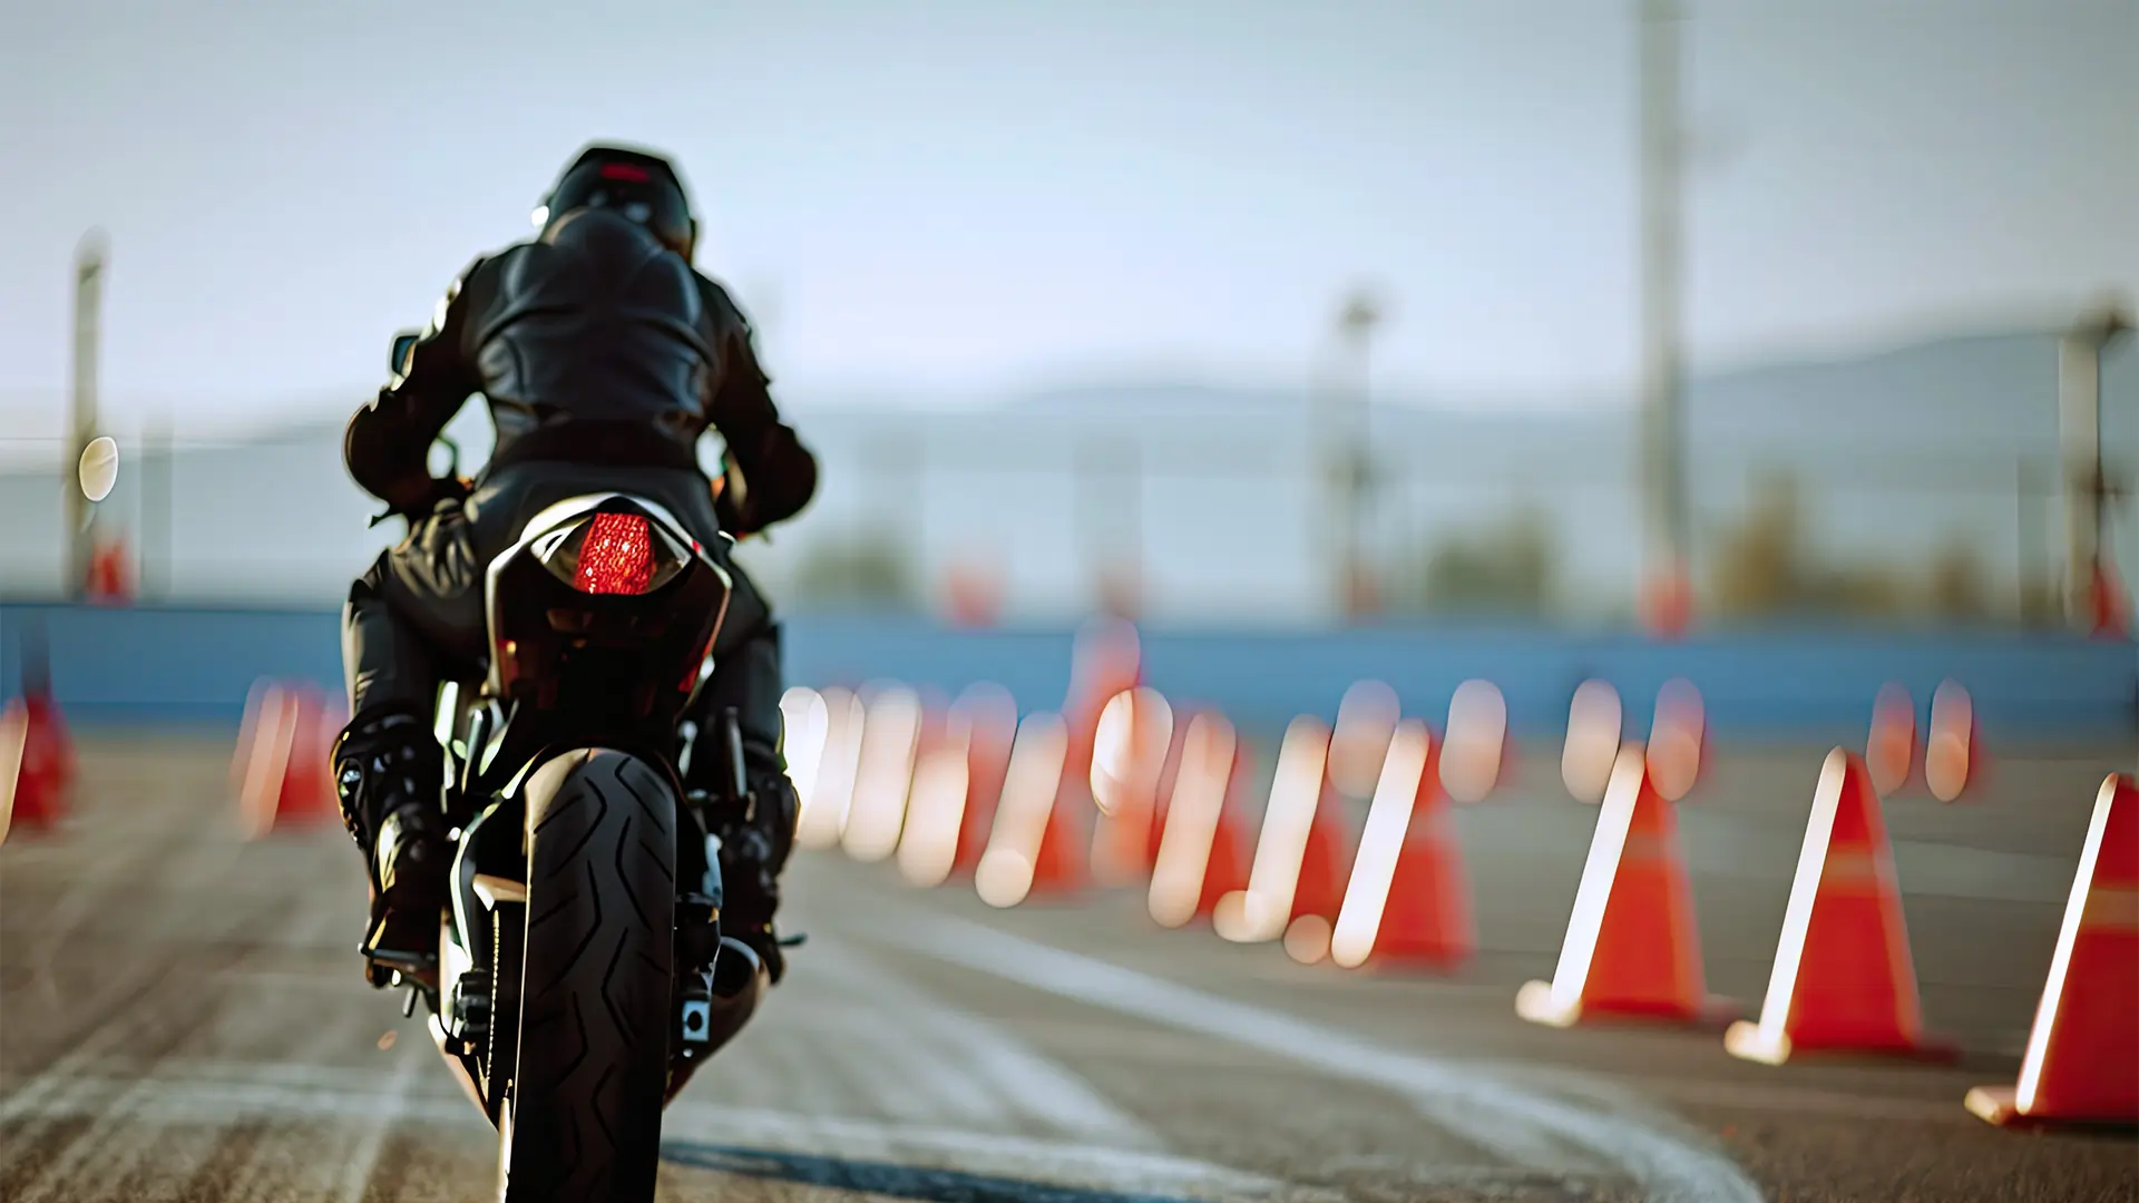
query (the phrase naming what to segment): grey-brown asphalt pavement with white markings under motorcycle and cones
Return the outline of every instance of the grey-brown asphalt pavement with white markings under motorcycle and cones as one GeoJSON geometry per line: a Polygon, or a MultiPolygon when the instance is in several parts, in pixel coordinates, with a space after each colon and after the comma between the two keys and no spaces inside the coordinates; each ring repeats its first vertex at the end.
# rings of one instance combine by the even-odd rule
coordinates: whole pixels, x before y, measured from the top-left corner
{"type": "MultiPolygon", "coordinates": [[[[396,995],[361,983],[336,824],[237,835],[229,747],[81,738],[77,813],[0,846],[0,1199],[483,1199],[494,1137],[396,995]]],[[[1767,985],[1825,749],[1724,749],[1681,807],[1709,985],[1767,985]]],[[[1887,807],[1923,1008],[1957,1064],[1733,1060],[1718,1032],[1546,1030],[1594,811],[1525,758],[1461,811],[1480,955],[1301,965],[1164,931],[1136,895],[999,912],[800,856],[811,940],[670,1109],[670,1201],[2130,1201],[2130,1135],[2006,1132],[2103,773],[2011,756],[1964,805],[1887,807]]]]}

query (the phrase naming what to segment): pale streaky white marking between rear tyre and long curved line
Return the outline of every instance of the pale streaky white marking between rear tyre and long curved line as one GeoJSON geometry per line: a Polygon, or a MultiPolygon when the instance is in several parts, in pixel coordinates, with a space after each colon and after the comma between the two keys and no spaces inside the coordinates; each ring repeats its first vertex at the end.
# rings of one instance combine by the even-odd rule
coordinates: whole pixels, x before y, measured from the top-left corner
{"type": "Polygon", "coordinates": [[[898,1049],[894,1060],[905,1072],[937,1087],[960,1120],[1018,1113],[1091,1141],[1155,1145],[1142,1124],[1108,1102],[1089,1081],[999,1023],[965,1012],[845,946],[830,944],[813,953],[811,974],[819,972],[819,965],[841,980],[847,998],[873,1010],[881,1004],[898,1010],[898,1023],[877,1027],[871,1045],[898,1049]]]}

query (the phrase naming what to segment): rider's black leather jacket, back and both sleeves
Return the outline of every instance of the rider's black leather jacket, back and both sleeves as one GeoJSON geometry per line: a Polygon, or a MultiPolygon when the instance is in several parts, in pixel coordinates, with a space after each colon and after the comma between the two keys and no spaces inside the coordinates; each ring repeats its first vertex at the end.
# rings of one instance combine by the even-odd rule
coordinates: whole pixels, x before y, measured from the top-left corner
{"type": "Polygon", "coordinates": [[[747,514],[723,492],[736,533],[794,516],[817,486],[736,302],[605,210],[471,263],[402,368],[342,439],[349,475],[400,512],[436,497],[430,443],[477,392],[496,426],[486,473],[533,460],[695,471],[712,428],[749,482],[747,514]]]}

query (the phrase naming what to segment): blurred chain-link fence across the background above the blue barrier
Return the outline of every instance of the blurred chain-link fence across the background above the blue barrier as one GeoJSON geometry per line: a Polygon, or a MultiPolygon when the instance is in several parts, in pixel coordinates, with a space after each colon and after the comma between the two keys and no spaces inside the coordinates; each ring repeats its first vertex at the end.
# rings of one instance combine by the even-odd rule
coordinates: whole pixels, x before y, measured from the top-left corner
{"type": "MultiPolygon", "coordinates": [[[[744,561],[798,610],[956,608],[1046,621],[1134,606],[1159,621],[1301,623],[1337,612],[1341,509],[1305,417],[1061,411],[809,413],[813,507],[744,561]]],[[[1358,546],[1382,616],[1628,623],[1643,554],[1632,424],[1487,424],[1378,409],[1358,546]]],[[[471,407],[464,467],[488,428],[471,407]]],[[[340,465],[340,426],[272,439],[116,430],[94,509],[141,597],[332,604],[398,533],[340,465]]],[[[60,439],[0,465],[0,580],[66,580],[60,439]]],[[[710,460],[710,454],[708,454],[710,460]]],[[[1690,441],[1694,576],[1718,621],[2056,621],[2064,499],[2053,447],[1880,450],[1690,441]]],[[[2109,546],[2139,563],[2128,509],[2109,546]]]]}

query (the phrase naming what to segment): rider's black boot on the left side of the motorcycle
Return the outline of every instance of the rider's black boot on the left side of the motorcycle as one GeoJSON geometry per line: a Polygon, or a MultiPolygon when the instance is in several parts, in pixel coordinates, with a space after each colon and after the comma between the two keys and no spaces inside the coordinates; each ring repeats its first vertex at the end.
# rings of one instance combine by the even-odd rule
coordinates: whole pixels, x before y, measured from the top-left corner
{"type": "Polygon", "coordinates": [[[438,965],[451,841],[443,813],[445,751],[406,711],[364,715],[334,743],[342,822],[370,867],[366,976],[374,987],[438,965]]]}

